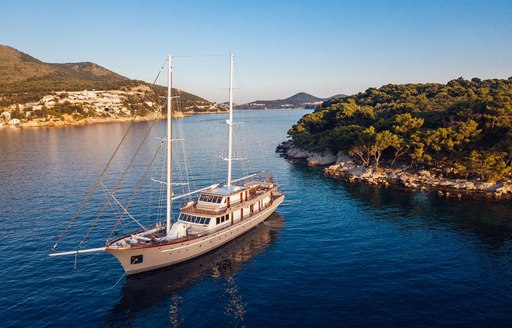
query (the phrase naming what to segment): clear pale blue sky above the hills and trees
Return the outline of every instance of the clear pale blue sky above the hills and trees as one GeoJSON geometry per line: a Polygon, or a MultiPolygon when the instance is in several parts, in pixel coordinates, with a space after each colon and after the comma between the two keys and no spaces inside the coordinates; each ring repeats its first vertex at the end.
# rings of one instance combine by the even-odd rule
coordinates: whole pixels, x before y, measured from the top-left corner
{"type": "Polygon", "coordinates": [[[512,1],[0,0],[0,44],[223,102],[512,76],[512,1]],[[166,84],[163,79],[159,84],[166,84]]]}

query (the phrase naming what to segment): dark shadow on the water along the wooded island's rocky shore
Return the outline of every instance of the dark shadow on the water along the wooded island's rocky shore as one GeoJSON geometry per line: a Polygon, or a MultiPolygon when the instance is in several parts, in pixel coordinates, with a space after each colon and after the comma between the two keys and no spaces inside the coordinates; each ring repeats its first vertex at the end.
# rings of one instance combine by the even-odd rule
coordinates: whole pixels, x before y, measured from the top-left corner
{"type": "Polygon", "coordinates": [[[434,193],[335,183],[343,184],[349,197],[360,202],[375,220],[404,228],[426,227],[473,235],[491,249],[512,240],[512,205],[508,202],[446,199],[434,193]]]}

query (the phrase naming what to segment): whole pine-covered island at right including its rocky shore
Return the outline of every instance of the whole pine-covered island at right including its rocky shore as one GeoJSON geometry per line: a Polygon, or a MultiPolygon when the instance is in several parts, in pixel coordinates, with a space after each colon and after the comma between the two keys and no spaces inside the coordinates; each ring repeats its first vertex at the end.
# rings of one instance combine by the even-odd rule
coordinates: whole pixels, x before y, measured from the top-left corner
{"type": "Polygon", "coordinates": [[[278,147],[327,176],[443,197],[512,196],[512,78],[388,84],[323,102],[278,147]]]}

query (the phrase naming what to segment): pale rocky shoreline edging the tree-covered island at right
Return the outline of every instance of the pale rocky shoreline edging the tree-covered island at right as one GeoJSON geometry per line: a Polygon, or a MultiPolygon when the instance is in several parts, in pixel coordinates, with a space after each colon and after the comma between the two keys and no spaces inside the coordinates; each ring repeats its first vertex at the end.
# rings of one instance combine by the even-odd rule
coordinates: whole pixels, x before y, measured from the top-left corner
{"type": "Polygon", "coordinates": [[[409,166],[372,168],[358,165],[346,154],[333,154],[326,150],[315,153],[302,150],[291,141],[277,147],[277,152],[288,159],[307,161],[309,166],[325,165],[323,172],[334,179],[361,182],[384,187],[398,187],[447,198],[512,199],[512,181],[487,182],[480,179],[446,178],[432,170],[415,170],[409,166]]]}

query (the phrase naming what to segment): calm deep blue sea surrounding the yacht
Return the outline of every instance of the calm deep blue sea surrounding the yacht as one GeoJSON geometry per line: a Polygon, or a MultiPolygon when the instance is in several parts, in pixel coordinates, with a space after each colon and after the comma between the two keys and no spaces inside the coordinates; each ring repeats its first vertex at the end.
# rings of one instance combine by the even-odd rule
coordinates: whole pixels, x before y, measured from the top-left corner
{"type": "MultiPolygon", "coordinates": [[[[350,185],[289,163],[274,150],[304,113],[240,118],[248,130],[240,145],[250,145],[241,155],[252,162],[235,171],[270,171],[287,197],[266,224],[195,261],[128,279],[108,254],[78,257],[76,271],[73,257],[47,256],[128,124],[1,129],[0,326],[509,326],[512,206],[350,185]]],[[[225,178],[215,158],[225,153],[225,119],[181,120],[196,187],[225,178]]],[[[134,124],[105,176],[109,188],[151,124],[134,124]]],[[[163,127],[155,123],[135,172],[163,127]]],[[[125,182],[122,202],[137,179],[125,182]]],[[[152,185],[139,194],[154,203],[152,185]]],[[[76,247],[104,199],[94,194],[59,250],[76,247]]],[[[137,198],[130,212],[158,219],[161,207],[146,205],[137,198]]],[[[101,246],[114,224],[102,216],[86,245],[101,246]]]]}

